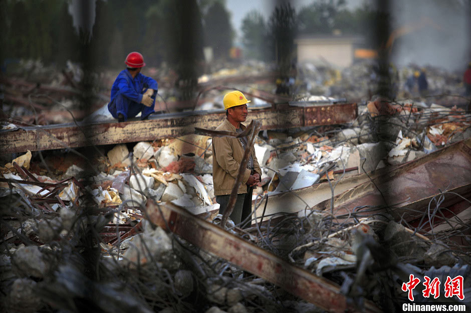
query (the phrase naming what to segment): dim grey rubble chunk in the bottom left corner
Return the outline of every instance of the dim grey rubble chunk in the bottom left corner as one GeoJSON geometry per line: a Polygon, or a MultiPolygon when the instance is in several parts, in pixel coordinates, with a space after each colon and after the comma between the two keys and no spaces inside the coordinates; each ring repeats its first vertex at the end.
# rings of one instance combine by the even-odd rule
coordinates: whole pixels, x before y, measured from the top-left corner
{"type": "Polygon", "coordinates": [[[37,282],[29,278],[18,278],[12,284],[8,295],[8,311],[33,313],[42,306],[41,298],[35,290],[37,282]]]}

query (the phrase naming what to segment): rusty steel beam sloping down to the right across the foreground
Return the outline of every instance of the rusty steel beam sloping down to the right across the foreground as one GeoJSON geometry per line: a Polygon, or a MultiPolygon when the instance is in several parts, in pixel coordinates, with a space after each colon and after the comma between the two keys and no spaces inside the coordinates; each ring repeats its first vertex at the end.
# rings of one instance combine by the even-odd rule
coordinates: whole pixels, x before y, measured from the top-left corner
{"type": "MultiPolygon", "coordinates": [[[[282,258],[241,239],[185,209],[147,202],[145,217],[198,247],[274,283],[288,292],[331,312],[355,311],[333,282],[298,268],[282,258]]],[[[365,301],[363,312],[379,312],[365,301]]]]}

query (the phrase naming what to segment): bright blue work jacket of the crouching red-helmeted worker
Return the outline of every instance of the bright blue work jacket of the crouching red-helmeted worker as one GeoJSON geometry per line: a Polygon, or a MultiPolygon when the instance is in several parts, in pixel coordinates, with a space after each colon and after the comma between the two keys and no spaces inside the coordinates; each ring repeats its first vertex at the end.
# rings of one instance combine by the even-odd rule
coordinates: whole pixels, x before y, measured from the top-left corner
{"type": "Polygon", "coordinates": [[[137,74],[136,77],[132,79],[128,70],[122,70],[118,77],[116,77],[113,86],[111,86],[110,102],[113,102],[118,94],[122,94],[129,100],[141,103],[144,88],[151,88],[157,91],[158,85],[154,79],[142,75],[141,73],[137,74]]]}

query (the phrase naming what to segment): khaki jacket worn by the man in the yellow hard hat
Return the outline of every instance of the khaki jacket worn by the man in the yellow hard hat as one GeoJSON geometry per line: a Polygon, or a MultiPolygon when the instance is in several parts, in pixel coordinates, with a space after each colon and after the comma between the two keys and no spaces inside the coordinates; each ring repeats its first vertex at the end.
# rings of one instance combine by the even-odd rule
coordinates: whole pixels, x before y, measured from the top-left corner
{"type": "MultiPolygon", "coordinates": [[[[243,130],[246,126],[241,124],[243,130]]],[[[216,130],[228,130],[235,132],[235,127],[227,119],[217,126],[216,130]]],[[[255,157],[254,169],[262,177],[262,169],[255,157]]],[[[214,195],[220,196],[230,194],[235,183],[235,177],[239,172],[239,166],[244,157],[244,149],[239,138],[234,137],[213,137],[212,138],[212,181],[214,183],[214,195]]],[[[247,193],[247,181],[249,180],[250,169],[246,169],[242,178],[241,186],[237,193],[247,193]]]]}

